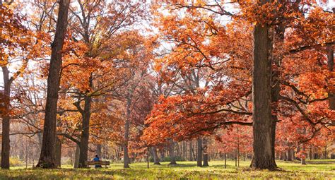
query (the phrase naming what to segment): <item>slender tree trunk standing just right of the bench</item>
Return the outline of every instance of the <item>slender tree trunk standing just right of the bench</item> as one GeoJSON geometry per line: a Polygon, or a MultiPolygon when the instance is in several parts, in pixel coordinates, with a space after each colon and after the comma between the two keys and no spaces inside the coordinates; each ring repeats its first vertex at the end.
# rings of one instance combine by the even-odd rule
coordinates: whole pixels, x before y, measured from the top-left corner
{"type": "MultiPolygon", "coordinates": [[[[131,92],[129,92],[130,96],[131,92]]],[[[126,122],[124,124],[124,160],[123,160],[123,167],[129,168],[129,154],[128,154],[128,141],[129,141],[129,127],[130,127],[130,113],[131,113],[131,97],[127,98],[127,116],[126,122]]]]}

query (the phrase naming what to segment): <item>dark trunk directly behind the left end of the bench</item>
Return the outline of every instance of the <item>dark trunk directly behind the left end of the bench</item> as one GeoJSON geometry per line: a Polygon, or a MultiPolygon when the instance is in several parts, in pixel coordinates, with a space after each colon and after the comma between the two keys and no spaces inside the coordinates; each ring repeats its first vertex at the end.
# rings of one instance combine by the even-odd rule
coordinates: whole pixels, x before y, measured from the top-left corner
{"type": "MultiPolygon", "coordinates": [[[[92,76],[90,76],[90,87],[92,87],[92,76]]],[[[85,162],[88,160],[88,140],[90,138],[90,104],[92,98],[85,96],[83,109],[83,124],[81,127],[81,151],[79,155],[79,168],[86,167],[85,162]]]]}

